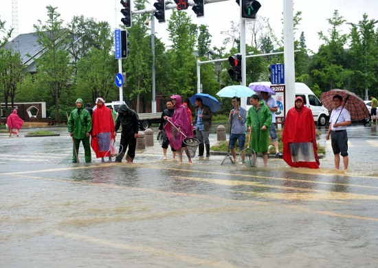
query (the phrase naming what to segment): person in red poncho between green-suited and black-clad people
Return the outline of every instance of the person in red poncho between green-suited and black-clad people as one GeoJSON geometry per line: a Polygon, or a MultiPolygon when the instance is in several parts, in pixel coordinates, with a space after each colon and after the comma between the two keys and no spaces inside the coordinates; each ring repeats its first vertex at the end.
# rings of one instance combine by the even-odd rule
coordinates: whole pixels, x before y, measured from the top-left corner
{"type": "Polygon", "coordinates": [[[101,158],[101,162],[105,162],[105,156],[111,161],[111,147],[114,143],[113,116],[111,110],[104,106],[104,102],[100,97],[96,99],[97,108],[93,110],[91,131],[91,147],[96,153],[96,158],[101,158]]]}

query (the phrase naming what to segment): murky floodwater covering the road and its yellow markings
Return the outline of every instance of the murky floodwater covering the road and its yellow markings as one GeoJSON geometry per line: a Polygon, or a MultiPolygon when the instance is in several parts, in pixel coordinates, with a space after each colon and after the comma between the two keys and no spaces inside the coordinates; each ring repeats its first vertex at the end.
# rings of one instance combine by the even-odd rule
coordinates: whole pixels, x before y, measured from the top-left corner
{"type": "Polygon", "coordinates": [[[377,126],[348,127],[346,172],[324,127],[318,170],[178,165],[157,143],[133,165],[72,164],[52,130],[0,134],[0,267],[378,267],[377,126]]]}

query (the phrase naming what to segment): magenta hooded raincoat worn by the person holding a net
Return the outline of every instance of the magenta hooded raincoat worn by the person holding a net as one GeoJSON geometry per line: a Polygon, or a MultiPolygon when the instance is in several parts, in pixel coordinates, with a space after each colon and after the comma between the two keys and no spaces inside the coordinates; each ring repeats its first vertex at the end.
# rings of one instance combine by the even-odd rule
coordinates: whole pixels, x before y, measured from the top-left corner
{"type": "Polygon", "coordinates": [[[181,96],[173,95],[170,96],[170,98],[176,99],[175,112],[173,113],[173,117],[170,119],[171,123],[167,123],[164,126],[164,130],[166,130],[170,146],[173,147],[173,149],[178,150],[181,148],[184,138],[193,137],[194,134],[192,129],[192,122],[190,122],[190,119],[188,117],[188,111],[186,110],[186,107],[181,104],[181,96]],[[178,128],[180,128],[182,134],[178,132],[178,128]]]}

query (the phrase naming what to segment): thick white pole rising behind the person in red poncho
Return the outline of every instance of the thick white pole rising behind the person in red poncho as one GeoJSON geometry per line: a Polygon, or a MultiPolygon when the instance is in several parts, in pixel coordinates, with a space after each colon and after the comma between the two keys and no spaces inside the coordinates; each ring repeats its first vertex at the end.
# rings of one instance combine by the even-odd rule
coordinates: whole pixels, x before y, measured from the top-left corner
{"type": "Polygon", "coordinates": [[[294,66],[293,0],[283,0],[284,15],[284,61],[285,61],[285,114],[294,107],[296,77],[294,66]]]}

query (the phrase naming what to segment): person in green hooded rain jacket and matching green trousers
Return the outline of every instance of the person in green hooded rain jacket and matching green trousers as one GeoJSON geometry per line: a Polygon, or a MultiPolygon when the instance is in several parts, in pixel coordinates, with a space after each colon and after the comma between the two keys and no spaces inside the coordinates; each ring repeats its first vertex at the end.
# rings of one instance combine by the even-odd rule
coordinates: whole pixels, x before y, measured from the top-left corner
{"type": "Polygon", "coordinates": [[[91,136],[92,119],[88,110],[82,108],[82,99],[76,100],[76,109],[69,114],[67,126],[69,135],[73,138],[75,145],[72,162],[78,162],[76,155],[79,151],[80,141],[84,147],[85,162],[91,162],[91,143],[89,143],[89,136],[91,136]]]}

